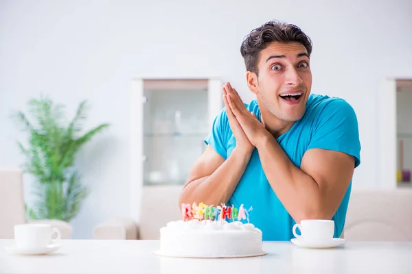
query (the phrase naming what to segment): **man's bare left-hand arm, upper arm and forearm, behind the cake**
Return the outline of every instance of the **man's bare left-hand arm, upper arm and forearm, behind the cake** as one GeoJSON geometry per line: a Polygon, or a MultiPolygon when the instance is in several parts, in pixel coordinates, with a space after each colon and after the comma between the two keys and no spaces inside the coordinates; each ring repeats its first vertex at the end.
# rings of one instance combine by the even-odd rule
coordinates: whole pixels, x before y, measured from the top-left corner
{"type": "Polygon", "coordinates": [[[179,197],[181,203],[205,203],[220,205],[227,203],[238,186],[251,153],[234,149],[225,160],[214,149],[207,146],[190,171],[187,183],[179,197]]]}

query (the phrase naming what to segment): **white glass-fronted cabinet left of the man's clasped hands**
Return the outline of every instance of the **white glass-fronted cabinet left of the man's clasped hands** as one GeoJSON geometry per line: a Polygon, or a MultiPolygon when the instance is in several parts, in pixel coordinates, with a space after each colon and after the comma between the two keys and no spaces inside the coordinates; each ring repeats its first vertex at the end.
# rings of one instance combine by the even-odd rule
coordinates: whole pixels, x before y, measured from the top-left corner
{"type": "Polygon", "coordinates": [[[130,205],[146,186],[183,186],[223,108],[219,79],[133,79],[130,90],[130,205]]]}

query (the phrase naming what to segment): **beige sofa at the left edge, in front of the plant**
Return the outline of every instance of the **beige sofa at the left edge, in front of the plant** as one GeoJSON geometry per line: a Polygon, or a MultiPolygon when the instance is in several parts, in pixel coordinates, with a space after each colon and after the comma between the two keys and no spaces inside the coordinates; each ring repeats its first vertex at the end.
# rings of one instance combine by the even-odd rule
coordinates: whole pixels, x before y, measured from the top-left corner
{"type": "Polygon", "coordinates": [[[0,170],[0,239],[14,238],[14,225],[22,223],[49,223],[57,227],[62,238],[71,238],[72,229],[69,223],[60,220],[25,219],[23,199],[23,173],[20,169],[0,170]]]}

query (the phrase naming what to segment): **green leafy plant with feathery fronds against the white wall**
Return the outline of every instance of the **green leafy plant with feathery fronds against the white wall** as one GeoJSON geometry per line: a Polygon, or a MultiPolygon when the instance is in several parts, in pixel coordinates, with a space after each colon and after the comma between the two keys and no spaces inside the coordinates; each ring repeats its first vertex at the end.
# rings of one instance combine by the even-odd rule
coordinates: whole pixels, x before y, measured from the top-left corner
{"type": "Polygon", "coordinates": [[[31,99],[28,113],[17,112],[16,119],[28,135],[25,147],[19,147],[25,155],[23,169],[34,176],[34,207],[26,206],[28,219],[59,219],[69,222],[78,214],[82,202],[89,194],[80,183],[80,175],[74,168],[76,153],[95,134],[108,127],[98,125],[82,134],[82,123],[87,119],[87,101],[78,106],[75,116],[64,121],[62,105],[54,105],[47,97],[31,99]]]}

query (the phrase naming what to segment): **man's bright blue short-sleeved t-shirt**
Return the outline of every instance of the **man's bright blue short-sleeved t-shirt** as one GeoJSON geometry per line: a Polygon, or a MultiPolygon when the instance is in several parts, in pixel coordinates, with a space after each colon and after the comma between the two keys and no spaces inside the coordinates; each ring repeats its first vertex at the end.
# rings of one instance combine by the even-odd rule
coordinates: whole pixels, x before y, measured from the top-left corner
{"type": "MultiPolygon", "coordinates": [[[[258,101],[245,104],[249,111],[260,117],[258,101]]],[[[216,117],[211,133],[205,138],[207,145],[223,158],[227,159],[236,147],[227,119],[226,110],[216,117]]],[[[361,163],[361,144],[358,134],[358,121],[352,106],[343,99],[322,95],[310,95],[306,103],[304,116],[279,138],[277,142],[284,149],[288,158],[300,168],[302,157],[308,149],[328,149],[341,151],[355,158],[355,167],[361,163]]],[[[321,167],[320,167],[321,168],[321,167]]],[[[335,223],[334,237],[341,236],[347,204],[350,198],[352,181],[343,197],[343,201],[332,217],[335,223]]],[[[262,169],[258,149],[254,149],[249,164],[227,203],[239,208],[243,204],[253,210],[249,220],[262,230],[263,240],[290,240],[295,221],[288,214],[271,188],[262,169]]],[[[244,221],[244,220],[242,220],[244,221]]]]}

